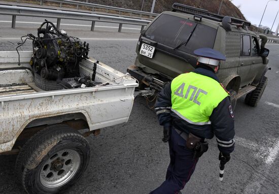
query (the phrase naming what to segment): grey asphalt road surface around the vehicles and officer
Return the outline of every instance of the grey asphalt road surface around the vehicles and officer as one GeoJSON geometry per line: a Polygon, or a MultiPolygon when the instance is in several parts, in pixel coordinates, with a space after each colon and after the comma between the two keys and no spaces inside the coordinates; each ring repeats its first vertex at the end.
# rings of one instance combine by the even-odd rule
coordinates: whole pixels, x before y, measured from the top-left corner
{"type": "MultiPolygon", "coordinates": [[[[1,16],[2,21],[9,18],[1,16]]],[[[18,21],[27,22],[28,18],[18,21]]],[[[38,21],[32,18],[33,21],[38,21]]],[[[64,23],[64,21],[61,21],[64,23]]],[[[71,22],[69,24],[80,24],[71,22]]],[[[36,34],[40,24],[0,21],[0,49],[15,50],[19,37],[36,34]]],[[[100,24],[101,25],[101,24],[100,24]]],[[[107,25],[107,24],[106,24],[107,25]]],[[[129,26],[128,26],[129,27],[129,26]]],[[[83,38],[90,44],[90,56],[125,73],[135,59],[139,30],[61,25],[69,35],[83,38]]],[[[279,192],[279,45],[270,49],[268,85],[256,108],[245,105],[241,98],[236,105],[236,146],[220,182],[216,140],[209,140],[210,149],[200,158],[183,193],[278,193],[279,192]]],[[[30,44],[23,50],[30,50],[30,44]]],[[[162,127],[156,114],[143,98],[137,98],[129,121],[103,128],[97,137],[89,136],[90,164],[68,193],[148,193],[159,186],[169,163],[168,145],[162,143],[162,127]]],[[[14,177],[16,156],[0,156],[0,193],[24,193],[14,177]]]]}

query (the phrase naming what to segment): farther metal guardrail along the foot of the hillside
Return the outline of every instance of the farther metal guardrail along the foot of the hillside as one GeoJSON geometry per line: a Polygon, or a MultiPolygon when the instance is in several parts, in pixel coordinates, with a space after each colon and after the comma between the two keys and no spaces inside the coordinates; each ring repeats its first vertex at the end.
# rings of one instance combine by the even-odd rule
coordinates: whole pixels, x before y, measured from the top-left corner
{"type": "MultiPolygon", "coordinates": [[[[131,9],[125,9],[125,8],[117,8],[117,7],[112,7],[112,6],[104,6],[104,5],[98,5],[98,4],[91,4],[91,3],[87,3],[86,2],[77,2],[77,1],[72,1],[72,0],[37,0],[40,5],[44,5],[45,2],[55,2],[60,4],[60,7],[62,7],[62,4],[67,4],[67,5],[75,5],[77,6],[77,9],[79,9],[80,6],[85,6],[85,7],[89,7],[92,9],[92,11],[94,11],[95,8],[98,9],[105,9],[107,10],[114,10],[117,11],[119,13],[119,15],[121,13],[129,13],[130,16],[132,16],[132,14],[138,14],[140,16],[148,16],[149,18],[153,18],[156,17],[159,14],[156,13],[150,13],[150,12],[143,12],[143,11],[138,11],[138,10],[131,10],[131,9]]],[[[17,0],[17,3],[20,3],[20,0],[17,0]]]]}

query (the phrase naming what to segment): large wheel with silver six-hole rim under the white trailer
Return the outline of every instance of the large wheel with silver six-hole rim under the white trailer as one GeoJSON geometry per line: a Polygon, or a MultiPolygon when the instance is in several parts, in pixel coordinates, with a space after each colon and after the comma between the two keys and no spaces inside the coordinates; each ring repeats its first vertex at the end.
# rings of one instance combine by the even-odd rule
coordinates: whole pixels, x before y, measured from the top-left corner
{"type": "Polygon", "coordinates": [[[87,140],[67,125],[52,125],[20,150],[16,174],[27,193],[57,193],[79,180],[90,158],[87,140]]]}

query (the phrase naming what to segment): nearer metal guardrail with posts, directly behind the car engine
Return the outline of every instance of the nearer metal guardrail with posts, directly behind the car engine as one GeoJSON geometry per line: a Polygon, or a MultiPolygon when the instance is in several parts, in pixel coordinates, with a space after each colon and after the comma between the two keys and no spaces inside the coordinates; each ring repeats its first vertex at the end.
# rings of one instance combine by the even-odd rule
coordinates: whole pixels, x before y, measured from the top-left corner
{"type": "Polygon", "coordinates": [[[57,18],[57,28],[60,27],[61,19],[73,19],[73,20],[87,20],[92,21],[91,31],[94,30],[95,22],[108,22],[108,23],[119,23],[118,31],[121,32],[122,24],[141,25],[141,31],[151,20],[125,18],[120,16],[109,16],[73,11],[61,11],[52,9],[41,9],[41,8],[29,8],[29,7],[17,7],[17,6],[6,6],[0,5],[0,15],[12,15],[12,28],[16,25],[16,16],[29,16],[29,17],[48,17],[57,18]]]}

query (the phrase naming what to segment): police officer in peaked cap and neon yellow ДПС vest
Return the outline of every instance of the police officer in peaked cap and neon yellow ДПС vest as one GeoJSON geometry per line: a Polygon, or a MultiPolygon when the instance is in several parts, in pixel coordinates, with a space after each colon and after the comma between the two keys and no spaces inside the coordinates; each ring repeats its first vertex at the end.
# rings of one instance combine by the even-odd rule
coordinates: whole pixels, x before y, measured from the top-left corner
{"type": "Polygon", "coordinates": [[[234,119],[229,93],[216,73],[220,52],[211,48],[194,51],[198,56],[193,72],[181,74],[158,94],[155,111],[163,125],[163,142],[169,143],[170,164],[165,181],[150,193],[181,193],[195,170],[198,158],[207,151],[214,135],[219,159],[230,160],[234,150],[234,119]]]}

